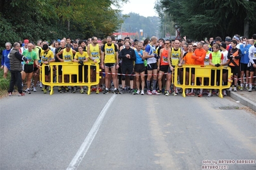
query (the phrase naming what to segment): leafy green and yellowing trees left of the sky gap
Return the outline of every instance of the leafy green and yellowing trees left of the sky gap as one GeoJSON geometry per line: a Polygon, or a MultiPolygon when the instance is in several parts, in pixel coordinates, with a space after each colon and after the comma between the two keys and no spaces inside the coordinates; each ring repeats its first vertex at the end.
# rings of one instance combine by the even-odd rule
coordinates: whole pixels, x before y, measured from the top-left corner
{"type": "Polygon", "coordinates": [[[36,41],[70,36],[111,35],[123,23],[119,3],[128,0],[3,0],[0,1],[0,47],[28,38],[36,41]]]}

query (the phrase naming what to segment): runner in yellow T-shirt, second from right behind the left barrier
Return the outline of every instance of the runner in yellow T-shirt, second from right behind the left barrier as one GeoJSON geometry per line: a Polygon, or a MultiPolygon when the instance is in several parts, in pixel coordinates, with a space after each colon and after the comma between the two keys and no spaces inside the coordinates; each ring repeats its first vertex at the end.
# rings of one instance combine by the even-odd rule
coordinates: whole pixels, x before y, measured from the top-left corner
{"type": "MultiPolygon", "coordinates": [[[[78,46],[78,52],[76,52],[76,55],[74,56],[73,61],[78,62],[80,65],[78,66],[78,81],[79,82],[85,82],[87,79],[88,74],[88,66],[84,66],[83,63],[88,61],[88,54],[87,52],[83,51],[83,47],[78,46]],[[84,70],[83,70],[84,69],[84,70]]],[[[80,86],[80,93],[84,93],[83,86],[80,86]]]]}

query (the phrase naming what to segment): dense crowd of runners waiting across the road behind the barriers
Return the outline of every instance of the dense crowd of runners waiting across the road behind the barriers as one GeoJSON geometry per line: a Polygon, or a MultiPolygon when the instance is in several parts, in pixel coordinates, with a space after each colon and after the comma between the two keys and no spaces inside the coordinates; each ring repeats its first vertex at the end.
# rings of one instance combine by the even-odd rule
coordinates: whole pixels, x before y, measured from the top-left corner
{"type": "MultiPolygon", "coordinates": [[[[85,86],[59,86],[60,93],[85,93],[87,90],[95,91],[96,94],[115,94],[132,93],[133,95],[178,95],[180,89],[173,84],[173,73],[175,66],[183,65],[212,65],[230,66],[232,70],[232,86],[229,91],[251,92],[255,89],[256,75],[256,34],[251,39],[245,36],[234,35],[232,38],[226,36],[225,40],[221,37],[209,38],[209,40],[193,42],[183,37],[183,40],[164,40],[152,36],[151,39],[144,41],[132,40],[129,37],[124,40],[115,40],[115,36],[108,36],[101,40],[96,36],[88,40],[72,40],[63,38],[53,40],[51,43],[38,40],[24,40],[23,42],[5,44],[1,60],[1,68],[4,77],[8,72],[11,73],[9,96],[12,96],[13,87],[18,88],[19,96],[24,93],[31,94],[42,88],[44,93],[50,87],[39,82],[40,68],[42,64],[51,62],[78,62],[78,77],[62,77],[62,66],[55,66],[53,70],[58,70],[58,75],[54,73],[54,79],[49,76],[49,66],[46,66],[44,73],[45,80],[58,82],[82,82],[88,79],[88,69],[91,70],[90,78],[95,80],[96,69],[93,65],[101,68],[101,80],[97,86],[88,89],[85,86]],[[90,68],[84,63],[90,62],[90,68]],[[84,69],[83,69],[84,67],[84,69]],[[84,70],[84,72],[83,72],[84,70]]],[[[216,76],[211,82],[201,82],[201,79],[194,80],[195,70],[185,69],[185,84],[216,84],[226,85],[228,75],[223,70],[222,79],[220,72],[212,73],[211,77],[216,76]],[[191,72],[189,74],[189,72],[191,72]],[[191,75],[191,77],[189,77],[191,75]]],[[[180,72],[180,75],[183,73],[180,72]]],[[[180,76],[181,78],[183,76],[180,76]]],[[[226,95],[223,91],[212,91],[211,89],[186,89],[187,96],[203,97],[204,94],[211,97],[214,93],[226,95]]]]}

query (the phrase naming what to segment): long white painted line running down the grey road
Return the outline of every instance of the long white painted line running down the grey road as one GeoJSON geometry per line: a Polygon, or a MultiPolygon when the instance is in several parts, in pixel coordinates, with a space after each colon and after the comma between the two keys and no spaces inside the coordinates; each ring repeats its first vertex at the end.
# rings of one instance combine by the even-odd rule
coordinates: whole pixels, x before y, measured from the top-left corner
{"type": "Polygon", "coordinates": [[[92,143],[94,137],[96,136],[96,134],[97,134],[97,132],[99,130],[99,127],[101,126],[101,123],[103,121],[103,118],[105,117],[105,115],[106,115],[106,113],[108,111],[108,108],[110,107],[112,102],[115,100],[116,96],[117,95],[113,95],[110,98],[110,100],[108,100],[107,104],[105,105],[105,107],[103,108],[101,113],[99,114],[99,116],[98,116],[97,120],[95,121],[94,125],[90,129],[90,132],[87,135],[87,137],[85,138],[85,141],[83,141],[83,144],[81,144],[79,150],[77,151],[77,153],[74,156],[73,160],[69,164],[69,167],[67,167],[67,170],[74,170],[74,169],[78,168],[79,164],[81,163],[81,160],[83,160],[83,157],[85,157],[85,154],[89,150],[90,144],[92,143]]]}

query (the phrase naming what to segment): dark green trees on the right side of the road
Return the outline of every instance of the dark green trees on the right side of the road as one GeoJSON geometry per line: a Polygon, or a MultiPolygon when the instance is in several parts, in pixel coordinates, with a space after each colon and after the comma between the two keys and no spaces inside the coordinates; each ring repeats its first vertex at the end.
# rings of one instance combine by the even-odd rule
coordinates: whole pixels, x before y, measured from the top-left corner
{"type": "Polygon", "coordinates": [[[249,35],[255,33],[256,3],[253,1],[159,0],[156,7],[178,23],[182,35],[188,38],[243,35],[246,20],[250,25],[249,35]]]}

